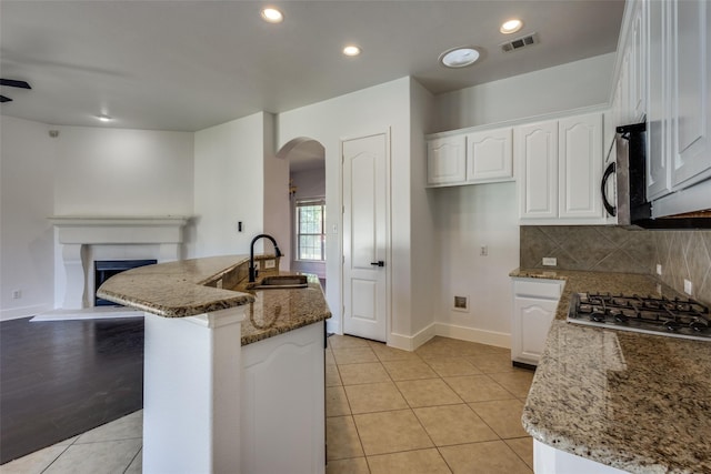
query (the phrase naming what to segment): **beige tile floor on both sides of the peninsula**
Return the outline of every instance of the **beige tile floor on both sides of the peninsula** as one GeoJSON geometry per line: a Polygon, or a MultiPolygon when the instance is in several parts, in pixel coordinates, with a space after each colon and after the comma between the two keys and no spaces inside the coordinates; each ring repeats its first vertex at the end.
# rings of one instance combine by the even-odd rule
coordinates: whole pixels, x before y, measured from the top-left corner
{"type": "MultiPolygon", "coordinates": [[[[532,373],[508,350],[434,337],[415,352],[333,335],[327,473],[531,473],[532,373]]],[[[0,466],[1,474],[140,473],[142,412],[0,466]]],[[[277,473],[276,473],[277,474],[277,473]]]]}

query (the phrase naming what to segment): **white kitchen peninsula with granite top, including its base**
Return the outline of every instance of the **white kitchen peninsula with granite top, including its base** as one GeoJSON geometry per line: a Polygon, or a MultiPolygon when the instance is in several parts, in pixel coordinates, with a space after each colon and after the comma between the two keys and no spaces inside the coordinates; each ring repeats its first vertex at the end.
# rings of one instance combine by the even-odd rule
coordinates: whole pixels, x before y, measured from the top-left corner
{"type": "MultiPolygon", "coordinates": [[[[260,274],[278,273],[259,255],[260,274]]],[[[141,266],[99,288],[146,314],[143,471],[323,472],[324,320],[318,279],[250,290],[249,256],[141,266]],[[236,343],[239,341],[239,343],[236,343]]]]}

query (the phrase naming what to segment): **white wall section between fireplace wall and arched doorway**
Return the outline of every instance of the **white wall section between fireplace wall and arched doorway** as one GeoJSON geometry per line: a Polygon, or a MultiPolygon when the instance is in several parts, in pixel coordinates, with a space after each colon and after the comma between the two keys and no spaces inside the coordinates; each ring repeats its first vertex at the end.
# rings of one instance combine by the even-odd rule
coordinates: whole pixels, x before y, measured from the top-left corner
{"type": "MultiPolygon", "coordinates": [[[[263,232],[263,138],[262,112],[194,134],[197,218],[191,256],[249,254],[252,238],[263,232]],[[242,232],[238,232],[240,221],[242,232]]],[[[262,243],[257,245],[260,252],[262,243]]]]}

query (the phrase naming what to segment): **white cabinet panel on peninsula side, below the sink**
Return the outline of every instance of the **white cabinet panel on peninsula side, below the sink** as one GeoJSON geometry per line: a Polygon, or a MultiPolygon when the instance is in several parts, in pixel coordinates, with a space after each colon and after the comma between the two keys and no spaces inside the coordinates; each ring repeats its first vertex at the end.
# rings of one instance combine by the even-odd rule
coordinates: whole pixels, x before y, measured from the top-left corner
{"type": "Polygon", "coordinates": [[[323,324],[242,347],[241,472],[326,472],[323,324]]]}

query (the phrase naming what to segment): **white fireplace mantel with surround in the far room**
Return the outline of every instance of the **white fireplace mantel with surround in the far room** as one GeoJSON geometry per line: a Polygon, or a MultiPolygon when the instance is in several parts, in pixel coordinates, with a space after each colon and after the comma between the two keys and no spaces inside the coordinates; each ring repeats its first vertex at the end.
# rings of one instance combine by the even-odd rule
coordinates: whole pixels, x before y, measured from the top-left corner
{"type": "MultiPolygon", "coordinates": [[[[48,219],[57,230],[63,263],[63,269],[56,269],[56,306],[73,310],[93,304],[93,295],[89,294],[93,289],[93,272],[90,271],[93,251],[131,249],[131,252],[149,252],[153,249],[152,255],[140,258],[156,259],[159,263],[181,260],[183,228],[191,216],[52,215],[48,219]],[[61,294],[64,299],[60,303],[61,294]]],[[[122,259],[126,258],[116,258],[122,259]]]]}

